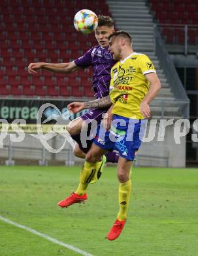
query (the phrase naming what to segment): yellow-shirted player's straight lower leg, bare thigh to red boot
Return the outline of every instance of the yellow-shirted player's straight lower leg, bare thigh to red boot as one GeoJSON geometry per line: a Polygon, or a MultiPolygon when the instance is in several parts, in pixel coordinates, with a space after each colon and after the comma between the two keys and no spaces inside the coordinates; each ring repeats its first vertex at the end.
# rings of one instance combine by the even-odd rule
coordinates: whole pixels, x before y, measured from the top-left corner
{"type": "Polygon", "coordinates": [[[120,236],[127,219],[127,211],[131,195],[131,166],[133,161],[120,157],[118,160],[118,195],[119,195],[119,212],[116,221],[108,232],[108,240],[115,240],[120,236]]]}

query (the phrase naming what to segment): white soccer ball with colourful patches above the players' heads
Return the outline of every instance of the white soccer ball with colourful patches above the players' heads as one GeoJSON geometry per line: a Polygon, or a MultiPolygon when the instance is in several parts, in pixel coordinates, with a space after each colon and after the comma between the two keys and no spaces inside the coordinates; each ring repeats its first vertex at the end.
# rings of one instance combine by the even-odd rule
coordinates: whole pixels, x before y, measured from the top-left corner
{"type": "Polygon", "coordinates": [[[77,12],[74,16],[74,27],[82,33],[91,33],[96,30],[98,24],[97,15],[87,9],[77,12]]]}

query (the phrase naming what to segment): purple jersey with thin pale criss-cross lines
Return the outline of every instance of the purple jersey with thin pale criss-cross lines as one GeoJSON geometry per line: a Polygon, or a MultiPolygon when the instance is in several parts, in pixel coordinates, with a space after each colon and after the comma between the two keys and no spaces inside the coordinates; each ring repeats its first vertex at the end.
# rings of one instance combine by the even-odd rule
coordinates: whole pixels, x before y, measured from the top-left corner
{"type": "Polygon", "coordinates": [[[99,45],[92,47],[83,56],[76,58],[74,63],[80,68],[92,66],[95,98],[103,98],[109,94],[110,69],[116,61],[108,52],[108,47],[103,48],[99,45]]]}

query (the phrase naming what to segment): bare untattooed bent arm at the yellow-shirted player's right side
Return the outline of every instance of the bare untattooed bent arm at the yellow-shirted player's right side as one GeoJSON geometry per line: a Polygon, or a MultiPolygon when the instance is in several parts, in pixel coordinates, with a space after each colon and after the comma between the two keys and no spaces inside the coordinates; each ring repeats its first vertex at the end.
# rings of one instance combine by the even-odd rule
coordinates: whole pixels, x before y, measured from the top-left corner
{"type": "Polygon", "coordinates": [[[151,116],[149,104],[161,89],[161,83],[156,73],[145,74],[145,76],[146,79],[150,82],[150,88],[147,95],[144,97],[142,103],[140,104],[140,112],[144,117],[148,118],[151,116]]]}

